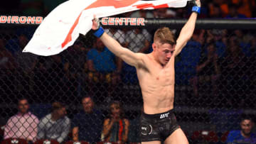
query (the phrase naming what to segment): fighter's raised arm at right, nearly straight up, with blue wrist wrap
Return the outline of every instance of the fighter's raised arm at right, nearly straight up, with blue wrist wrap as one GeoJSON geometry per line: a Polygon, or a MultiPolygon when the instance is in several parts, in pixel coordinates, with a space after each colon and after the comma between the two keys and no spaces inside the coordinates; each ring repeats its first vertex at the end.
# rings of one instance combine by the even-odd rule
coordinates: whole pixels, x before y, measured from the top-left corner
{"type": "Polygon", "coordinates": [[[188,40],[190,40],[193,35],[193,31],[196,26],[196,18],[198,16],[198,13],[200,13],[200,8],[201,8],[200,0],[195,0],[194,5],[195,6],[193,6],[192,8],[193,12],[191,13],[191,16],[188,18],[188,21],[181,29],[180,35],[178,35],[178,39],[175,47],[175,53],[174,53],[175,56],[181,52],[182,48],[186,45],[188,40]]]}

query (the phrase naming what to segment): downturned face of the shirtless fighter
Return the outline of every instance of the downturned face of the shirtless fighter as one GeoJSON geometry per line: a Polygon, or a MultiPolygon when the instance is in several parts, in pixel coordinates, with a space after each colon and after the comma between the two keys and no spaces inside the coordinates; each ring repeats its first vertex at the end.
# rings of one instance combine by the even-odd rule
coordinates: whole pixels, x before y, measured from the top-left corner
{"type": "Polygon", "coordinates": [[[169,43],[153,43],[153,49],[156,52],[156,58],[161,65],[166,65],[174,54],[175,47],[169,43]]]}

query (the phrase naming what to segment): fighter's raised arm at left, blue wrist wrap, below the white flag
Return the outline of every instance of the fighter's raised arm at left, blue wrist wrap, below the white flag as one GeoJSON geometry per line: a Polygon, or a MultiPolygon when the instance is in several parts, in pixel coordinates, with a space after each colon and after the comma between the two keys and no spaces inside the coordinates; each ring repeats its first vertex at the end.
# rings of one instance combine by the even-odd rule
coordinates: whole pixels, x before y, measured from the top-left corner
{"type": "Polygon", "coordinates": [[[117,57],[120,57],[124,62],[127,62],[129,65],[134,67],[139,67],[139,65],[143,65],[143,56],[142,53],[134,53],[127,48],[123,48],[117,40],[111,38],[110,35],[104,32],[104,30],[100,27],[97,29],[99,23],[97,21],[92,21],[92,30],[96,30],[95,35],[102,40],[104,45],[114,53],[117,57]]]}

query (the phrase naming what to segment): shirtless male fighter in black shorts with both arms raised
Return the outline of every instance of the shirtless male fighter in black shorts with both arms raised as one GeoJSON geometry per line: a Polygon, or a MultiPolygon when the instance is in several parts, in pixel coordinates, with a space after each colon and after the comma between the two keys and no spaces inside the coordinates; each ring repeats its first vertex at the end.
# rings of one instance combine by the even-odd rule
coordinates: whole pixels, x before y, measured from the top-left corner
{"type": "Polygon", "coordinates": [[[92,21],[94,35],[124,62],[136,67],[142,89],[144,112],[141,117],[142,143],[188,143],[186,135],[176,123],[174,116],[174,60],[188,40],[191,39],[200,13],[201,1],[193,1],[191,16],[181,29],[178,39],[169,28],[159,28],[154,33],[153,52],[134,53],[123,48],[117,40],[104,32],[95,18],[92,21]]]}

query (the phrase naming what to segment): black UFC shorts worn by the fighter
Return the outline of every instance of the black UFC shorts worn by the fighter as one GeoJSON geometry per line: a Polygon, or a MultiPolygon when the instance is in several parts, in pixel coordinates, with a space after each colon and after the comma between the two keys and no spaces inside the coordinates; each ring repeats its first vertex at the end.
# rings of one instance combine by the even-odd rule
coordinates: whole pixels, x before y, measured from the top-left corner
{"type": "Polygon", "coordinates": [[[142,142],[164,141],[176,129],[180,128],[176,122],[174,110],[164,113],[146,114],[142,113],[140,120],[140,135],[142,142]]]}

